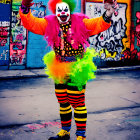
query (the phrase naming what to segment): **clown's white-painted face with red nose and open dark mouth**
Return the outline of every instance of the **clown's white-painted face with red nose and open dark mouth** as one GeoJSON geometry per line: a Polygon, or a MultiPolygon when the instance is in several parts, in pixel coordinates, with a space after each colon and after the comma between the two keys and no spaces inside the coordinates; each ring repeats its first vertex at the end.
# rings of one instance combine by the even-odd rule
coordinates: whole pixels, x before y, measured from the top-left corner
{"type": "Polygon", "coordinates": [[[65,2],[56,4],[56,16],[60,23],[66,23],[70,19],[70,8],[65,2]]]}

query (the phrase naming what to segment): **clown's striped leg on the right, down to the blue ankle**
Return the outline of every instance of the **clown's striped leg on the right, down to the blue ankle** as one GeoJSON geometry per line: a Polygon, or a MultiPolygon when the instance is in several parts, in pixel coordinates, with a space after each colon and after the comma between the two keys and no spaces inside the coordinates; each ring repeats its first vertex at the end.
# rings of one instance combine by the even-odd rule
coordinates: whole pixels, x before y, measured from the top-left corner
{"type": "Polygon", "coordinates": [[[77,126],[76,135],[85,139],[87,109],[85,107],[85,86],[83,90],[79,91],[77,87],[68,86],[68,100],[74,108],[74,119],[77,126]]]}

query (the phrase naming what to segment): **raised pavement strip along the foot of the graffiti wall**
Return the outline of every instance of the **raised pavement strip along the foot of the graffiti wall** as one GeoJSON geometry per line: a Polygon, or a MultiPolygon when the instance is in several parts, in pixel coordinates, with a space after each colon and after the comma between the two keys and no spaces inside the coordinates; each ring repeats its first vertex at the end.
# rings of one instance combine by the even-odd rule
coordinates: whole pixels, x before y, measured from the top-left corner
{"type": "MultiPolygon", "coordinates": [[[[125,67],[112,67],[101,68],[97,73],[116,72],[116,71],[129,71],[140,69],[140,66],[125,66],[125,67]]],[[[33,78],[33,77],[47,77],[44,69],[26,69],[26,70],[0,70],[0,80],[3,79],[16,79],[16,78],[33,78]]]]}

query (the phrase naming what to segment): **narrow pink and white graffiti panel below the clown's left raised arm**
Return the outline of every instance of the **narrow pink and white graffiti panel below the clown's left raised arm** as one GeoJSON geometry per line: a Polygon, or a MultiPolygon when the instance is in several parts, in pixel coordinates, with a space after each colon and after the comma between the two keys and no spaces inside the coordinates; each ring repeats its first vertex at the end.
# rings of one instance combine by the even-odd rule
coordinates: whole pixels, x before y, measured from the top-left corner
{"type": "Polygon", "coordinates": [[[13,5],[10,36],[10,65],[26,64],[27,30],[21,25],[19,6],[13,5]]]}

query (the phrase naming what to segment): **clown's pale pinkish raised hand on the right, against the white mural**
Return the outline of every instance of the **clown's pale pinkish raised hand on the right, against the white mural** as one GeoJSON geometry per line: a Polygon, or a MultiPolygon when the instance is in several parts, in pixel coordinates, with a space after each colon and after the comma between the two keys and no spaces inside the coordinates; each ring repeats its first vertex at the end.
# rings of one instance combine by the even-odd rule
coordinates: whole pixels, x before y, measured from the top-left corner
{"type": "Polygon", "coordinates": [[[104,0],[104,8],[106,9],[106,16],[111,17],[118,8],[116,0],[104,0]]]}

